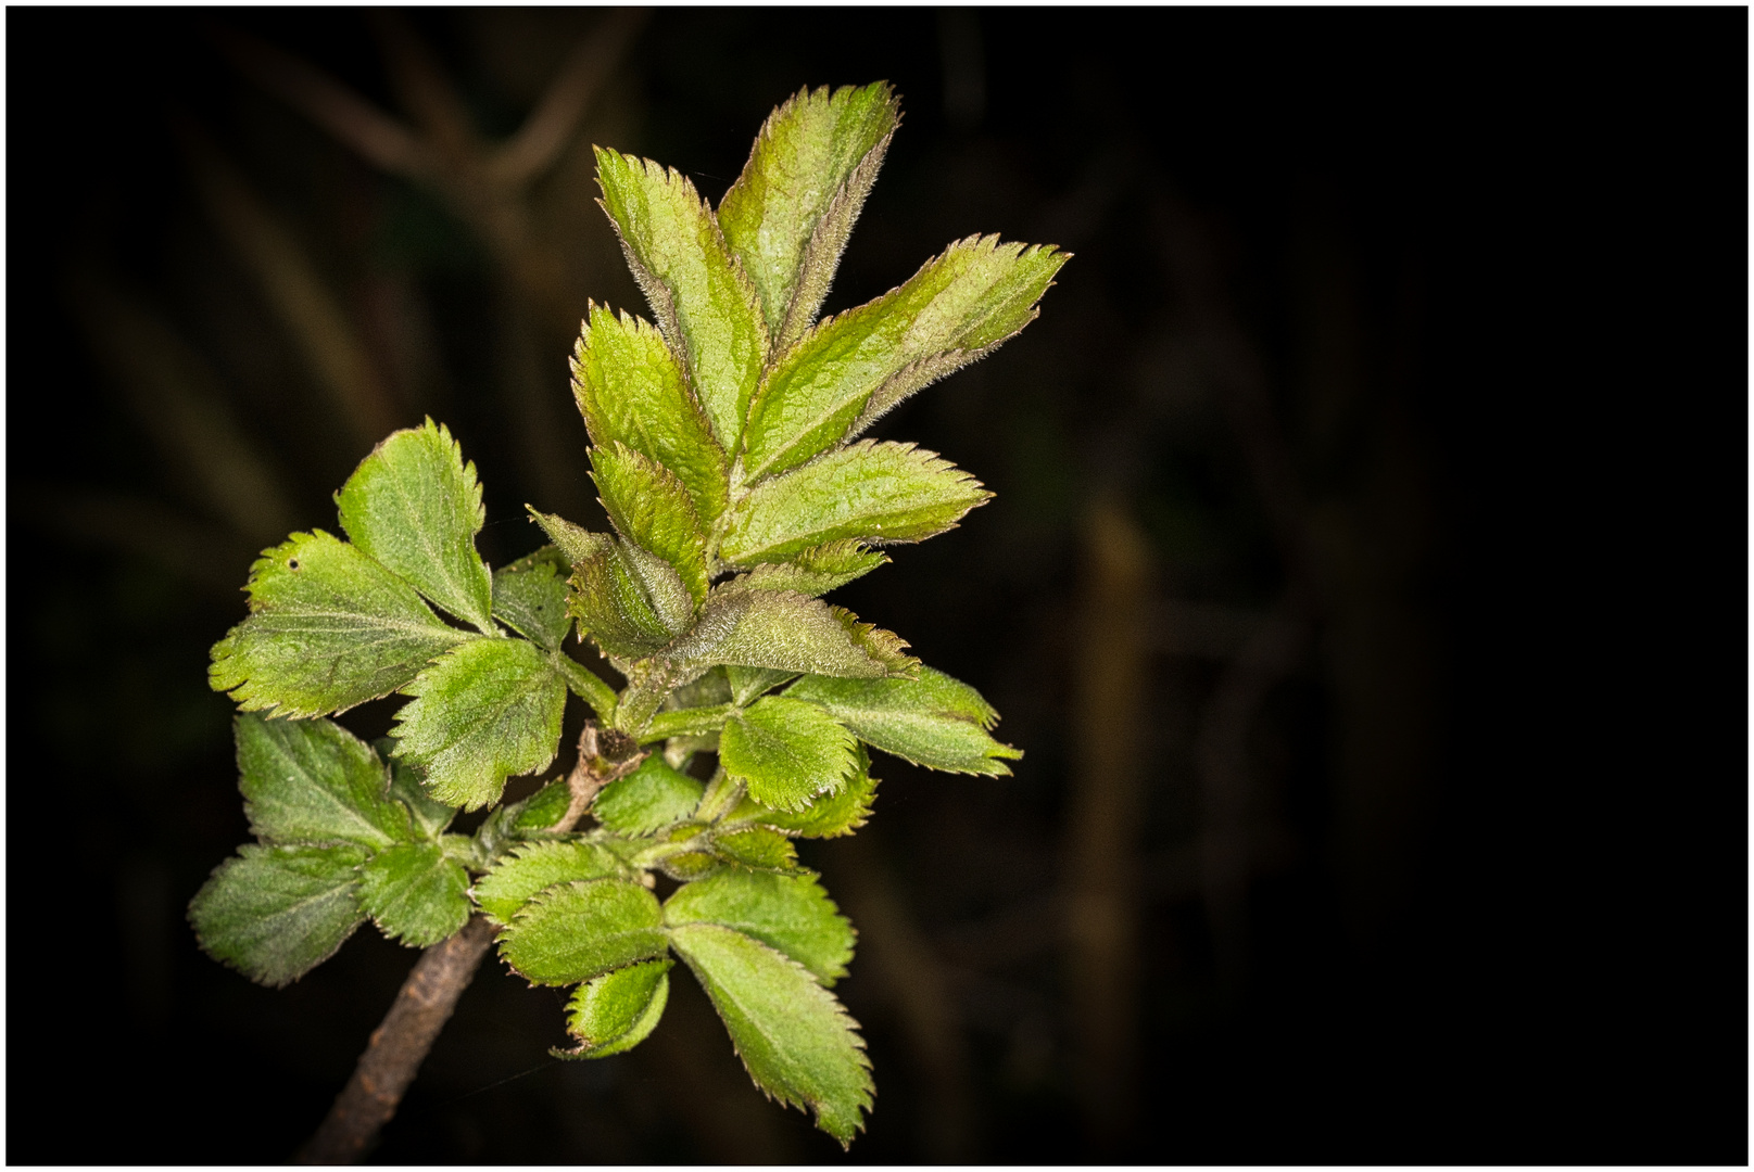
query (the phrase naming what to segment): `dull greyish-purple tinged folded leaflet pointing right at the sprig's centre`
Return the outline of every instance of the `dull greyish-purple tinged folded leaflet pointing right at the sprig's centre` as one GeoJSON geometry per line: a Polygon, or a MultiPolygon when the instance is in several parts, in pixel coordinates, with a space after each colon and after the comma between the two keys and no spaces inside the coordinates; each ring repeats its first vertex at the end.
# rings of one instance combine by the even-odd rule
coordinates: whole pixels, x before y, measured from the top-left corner
{"type": "Polygon", "coordinates": [[[907,643],[817,599],[786,590],[712,590],[695,627],[665,648],[672,662],[731,664],[873,680],[910,671],[907,643]]]}

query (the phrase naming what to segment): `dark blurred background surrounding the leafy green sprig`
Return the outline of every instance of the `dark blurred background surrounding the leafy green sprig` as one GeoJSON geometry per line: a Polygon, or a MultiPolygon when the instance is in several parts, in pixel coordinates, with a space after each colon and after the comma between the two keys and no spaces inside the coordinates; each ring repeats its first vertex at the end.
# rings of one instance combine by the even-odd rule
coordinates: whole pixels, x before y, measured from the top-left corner
{"type": "MultiPolygon", "coordinates": [[[[798,86],[886,77],[830,310],[975,231],[1077,256],[879,429],[998,499],[838,601],[1028,755],[882,760],[807,844],[861,930],[849,1158],[1745,1163],[1747,12],[617,19],[7,11],[5,1158],[309,1133],[412,953],[272,992],[182,920],[247,836],[205,662],[253,552],[428,412],[489,561],[524,501],[596,520],[563,359],[644,305],[588,144],[717,200],[798,86]],[[386,173],[226,30],[451,175],[631,39],[488,189],[386,173]]],[[[486,965],[375,1158],[842,1158],[686,978],[626,1056],[558,1041],[486,965]]]]}

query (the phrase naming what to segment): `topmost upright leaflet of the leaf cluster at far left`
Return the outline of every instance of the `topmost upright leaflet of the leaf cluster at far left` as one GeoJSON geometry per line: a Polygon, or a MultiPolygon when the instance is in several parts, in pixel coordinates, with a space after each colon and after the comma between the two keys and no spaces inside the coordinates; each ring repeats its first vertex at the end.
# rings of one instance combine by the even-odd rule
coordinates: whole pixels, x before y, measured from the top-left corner
{"type": "Polygon", "coordinates": [[[426,420],[372,448],[335,496],[360,550],[402,575],[438,606],[486,634],[493,580],[475,552],[481,484],[451,433],[426,420]]]}

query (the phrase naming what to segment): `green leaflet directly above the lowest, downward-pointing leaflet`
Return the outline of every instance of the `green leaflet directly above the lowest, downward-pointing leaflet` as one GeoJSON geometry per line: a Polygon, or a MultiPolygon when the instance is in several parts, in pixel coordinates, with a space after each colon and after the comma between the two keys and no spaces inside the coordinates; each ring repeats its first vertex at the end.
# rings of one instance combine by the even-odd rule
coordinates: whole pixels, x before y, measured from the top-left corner
{"type": "Polygon", "coordinates": [[[737,928],[786,953],[823,985],[844,978],[852,960],[852,925],[807,874],[721,871],[679,888],[663,906],[663,921],[737,928]]]}

